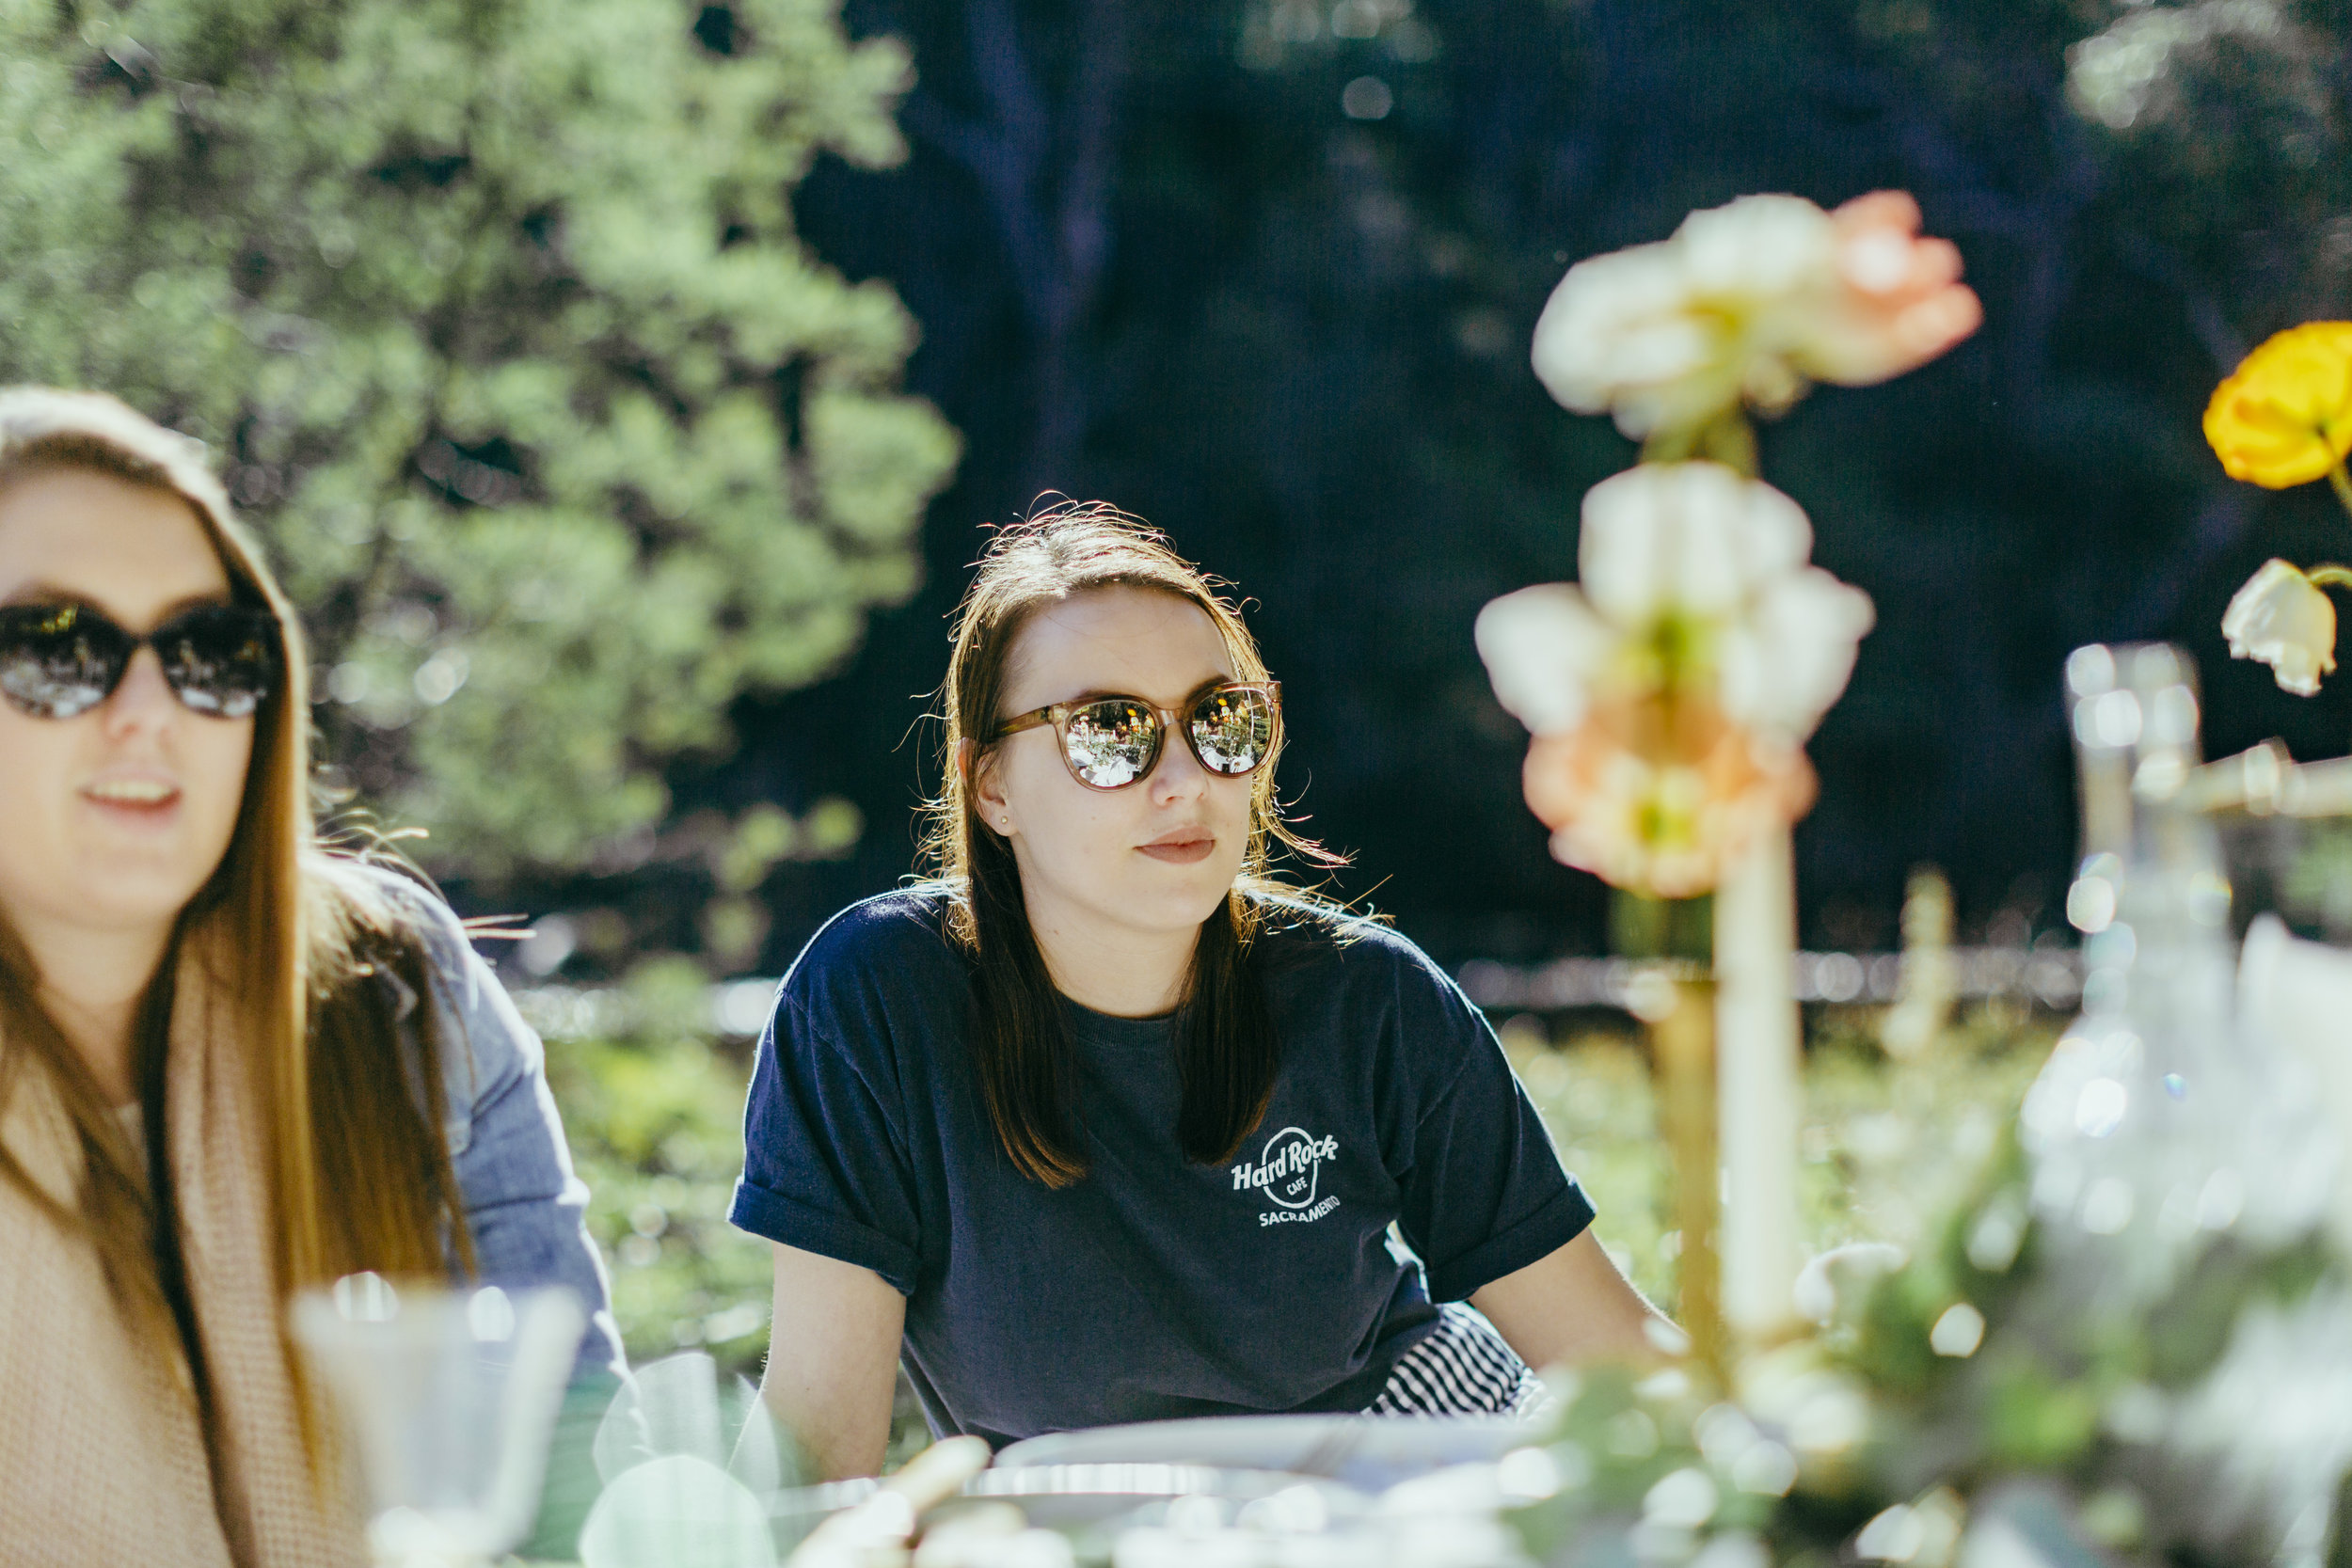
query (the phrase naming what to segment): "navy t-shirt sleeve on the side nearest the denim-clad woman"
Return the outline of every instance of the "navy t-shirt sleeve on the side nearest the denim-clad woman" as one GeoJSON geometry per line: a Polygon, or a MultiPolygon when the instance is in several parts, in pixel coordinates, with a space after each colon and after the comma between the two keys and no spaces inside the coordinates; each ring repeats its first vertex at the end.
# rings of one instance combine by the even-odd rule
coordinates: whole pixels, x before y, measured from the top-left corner
{"type": "Polygon", "coordinates": [[[913,1295],[922,1232],[887,1063],[884,1041],[842,1039],[786,983],[760,1037],[743,1107],[743,1180],[727,1218],[755,1237],[868,1267],[913,1295]],[[861,1060],[858,1046],[873,1060],[861,1060]]]}

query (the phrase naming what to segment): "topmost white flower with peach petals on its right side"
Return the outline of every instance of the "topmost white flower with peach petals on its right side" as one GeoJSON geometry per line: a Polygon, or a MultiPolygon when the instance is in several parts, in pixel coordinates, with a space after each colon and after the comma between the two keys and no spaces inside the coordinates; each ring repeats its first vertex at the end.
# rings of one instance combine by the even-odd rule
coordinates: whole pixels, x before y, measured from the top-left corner
{"type": "Polygon", "coordinates": [[[1959,252],[1919,237],[1919,205],[1875,190],[1835,214],[1795,195],[1693,212],[1670,240],[1569,268],[1536,322],[1536,376],[1578,414],[1646,437],[1806,381],[1867,386],[1976,331],[1959,252]]]}

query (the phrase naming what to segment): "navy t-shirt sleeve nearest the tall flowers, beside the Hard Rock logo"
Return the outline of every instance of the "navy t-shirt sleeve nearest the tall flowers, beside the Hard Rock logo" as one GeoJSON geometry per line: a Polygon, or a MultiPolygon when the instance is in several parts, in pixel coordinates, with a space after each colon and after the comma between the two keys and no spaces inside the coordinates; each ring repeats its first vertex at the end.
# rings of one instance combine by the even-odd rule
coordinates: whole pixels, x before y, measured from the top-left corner
{"type": "Polygon", "coordinates": [[[1435,973],[1406,987],[1406,1051],[1446,1070],[1430,1074],[1437,1088],[1414,1119],[1397,1229],[1428,1267],[1430,1298],[1456,1302],[1573,1241],[1592,1204],[1477,1009],[1435,973]]]}

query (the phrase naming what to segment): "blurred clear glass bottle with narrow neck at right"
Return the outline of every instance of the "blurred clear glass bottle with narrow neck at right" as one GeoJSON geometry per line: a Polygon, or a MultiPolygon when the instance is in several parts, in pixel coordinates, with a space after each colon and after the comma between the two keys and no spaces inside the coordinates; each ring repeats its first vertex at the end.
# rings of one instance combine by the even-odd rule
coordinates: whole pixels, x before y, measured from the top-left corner
{"type": "Polygon", "coordinates": [[[2082,1016],[2025,1100],[2034,1208],[2084,1288],[2145,1305],[2216,1237],[2317,1225],[2336,1147],[2293,1060],[2237,1020],[2230,879],[2190,804],[2197,672],[2164,644],[2067,661],[2084,858],[2082,1016]]]}

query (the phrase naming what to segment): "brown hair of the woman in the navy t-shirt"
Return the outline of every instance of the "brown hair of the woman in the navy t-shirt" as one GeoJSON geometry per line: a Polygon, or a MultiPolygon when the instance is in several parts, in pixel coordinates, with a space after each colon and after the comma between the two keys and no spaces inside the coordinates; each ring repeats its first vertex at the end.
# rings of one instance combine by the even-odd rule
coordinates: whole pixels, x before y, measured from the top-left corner
{"type": "MultiPolygon", "coordinates": [[[[1068,501],[1000,529],[955,614],[946,719],[946,778],[927,802],[924,853],[948,889],[948,929],[971,957],[971,1056],[981,1100],[1014,1166],[1047,1187],[1087,1173],[1070,1128],[1075,1046],[1061,994],[1021,898],[1011,844],[976,804],[976,780],[995,752],[1007,670],[1021,630],[1040,609],[1098,588],[1143,588],[1200,607],[1225,644],[1237,679],[1268,679],[1242,614],[1169,541],[1098,501],[1068,501]]],[[[1279,748],[1279,741],[1277,741],[1279,748]]],[[[1279,1041],[1256,961],[1275,898],[1319,900],[1268,870],[1282,844],[1312,865],[1343,858],[1298,837],[1275,797],[1275,757],[1249,778],[1249,842],[1242,875],[1200,929],[1178,1004],[1176,1070],[1183,1103],[1176,1143],[1185,1159],[1221,1164],[1265,1117],[1279,1041]]]]}

